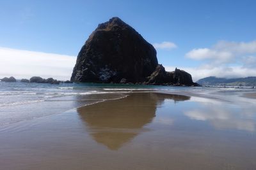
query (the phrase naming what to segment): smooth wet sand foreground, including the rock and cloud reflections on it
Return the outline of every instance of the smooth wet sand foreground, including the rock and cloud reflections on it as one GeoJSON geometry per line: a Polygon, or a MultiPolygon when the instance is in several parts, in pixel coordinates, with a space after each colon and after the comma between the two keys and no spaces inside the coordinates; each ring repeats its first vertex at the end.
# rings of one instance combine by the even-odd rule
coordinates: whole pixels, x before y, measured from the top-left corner
{"type": "Polygon", "coordinates": [[[255,104],[134,93],[0,129],[1,169],[256,169],[255,104]]]}

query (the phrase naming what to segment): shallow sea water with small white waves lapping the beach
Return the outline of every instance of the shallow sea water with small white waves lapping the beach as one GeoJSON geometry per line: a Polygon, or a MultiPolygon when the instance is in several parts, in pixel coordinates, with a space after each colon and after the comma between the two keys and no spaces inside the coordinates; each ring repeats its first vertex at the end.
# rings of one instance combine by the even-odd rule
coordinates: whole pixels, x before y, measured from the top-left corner
{"type": "MultiPolygon", "coordinates": [[[[164,92],[232,99],[255,89],[116,85],[97,83],[40,84],[0,81],[0,127],[62,113],[86,104],[118,99],[129,92],[164,92]],[[228,94],[228,95],[226,95],[228,94]],[[107,97],[107,98],[106,98],[107,97]]],[[[241,98],[241,97],[240,97],[241,98]]]]}

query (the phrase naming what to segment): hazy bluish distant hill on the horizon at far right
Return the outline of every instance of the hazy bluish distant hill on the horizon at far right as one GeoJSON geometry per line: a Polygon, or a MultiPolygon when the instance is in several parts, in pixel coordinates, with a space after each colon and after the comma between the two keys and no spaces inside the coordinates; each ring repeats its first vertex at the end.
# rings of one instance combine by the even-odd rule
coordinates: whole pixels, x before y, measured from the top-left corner
{"type": "Polygon", "coordinates": [[[200,85],[226,85],[226,86],[256,86],[256,76],[246,78],[216,78],[214,76],[202,78],[196,83],[200,85]]]}

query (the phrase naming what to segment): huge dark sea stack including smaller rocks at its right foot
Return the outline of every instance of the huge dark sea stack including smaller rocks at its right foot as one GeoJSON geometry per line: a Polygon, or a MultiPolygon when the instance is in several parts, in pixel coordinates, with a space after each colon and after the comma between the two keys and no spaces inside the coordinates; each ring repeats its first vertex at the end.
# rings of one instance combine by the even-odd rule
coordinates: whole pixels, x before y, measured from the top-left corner
{"type": "Polygon", "coordinates": [[[191,75],[185,71],[177,70],[172,74],[162,67],[157,62],[154,46],[130,25],[114,17],[99,24],[83,45],[71,81],[195,85],[191,75]],[[159,69],[163,69],[163,73],[159,73],[159,69]],[[164,78],[159,74],[164,74],[164,78]]]}

